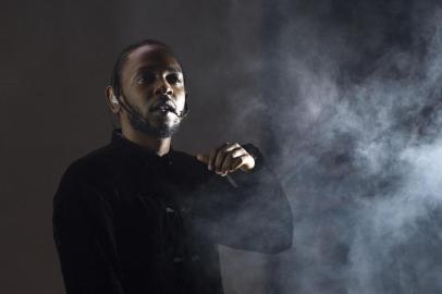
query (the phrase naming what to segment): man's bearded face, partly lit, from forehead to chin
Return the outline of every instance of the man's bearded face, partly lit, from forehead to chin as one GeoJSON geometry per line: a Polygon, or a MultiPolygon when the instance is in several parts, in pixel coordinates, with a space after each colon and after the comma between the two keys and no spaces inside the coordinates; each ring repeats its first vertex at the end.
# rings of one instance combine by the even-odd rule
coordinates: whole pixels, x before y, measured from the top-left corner
{"type": "Polygon", "coordinates": [[[177,131],[185,88],[182,69],[168,50],[147,45],[131,52],[121,82],[123,102],[143,118],[125,111],[133,128],[154,137],[170,137],[177,131]]]}

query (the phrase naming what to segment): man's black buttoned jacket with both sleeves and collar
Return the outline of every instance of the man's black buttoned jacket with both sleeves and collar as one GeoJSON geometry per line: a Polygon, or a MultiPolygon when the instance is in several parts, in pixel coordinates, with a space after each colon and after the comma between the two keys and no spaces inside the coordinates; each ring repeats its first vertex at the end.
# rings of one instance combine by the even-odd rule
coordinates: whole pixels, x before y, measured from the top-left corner
{"type": "Polygon", "coordinates": [[[124,137],[72,163],[53,199],[67,294],[222,293],[217,244],[279,253],[292,244],[286,197],[259,151],[222,177],[194,157],[159,157],[124,137]]]}

